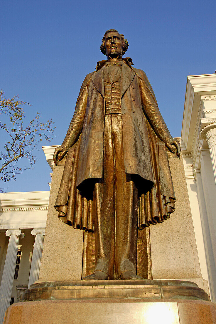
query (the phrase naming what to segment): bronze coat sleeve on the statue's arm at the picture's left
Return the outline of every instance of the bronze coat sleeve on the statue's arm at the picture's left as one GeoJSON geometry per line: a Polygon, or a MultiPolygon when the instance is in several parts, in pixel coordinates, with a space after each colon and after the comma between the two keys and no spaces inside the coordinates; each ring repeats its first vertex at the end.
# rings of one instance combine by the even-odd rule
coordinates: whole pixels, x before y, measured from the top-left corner
{"type": "Polygon", "coordinates": [[[79,96],[77,98],[77,103],[76,103],[76,108],[75,108],[73,118],[70,122],[70,126],[68,128],[65,139],[61,145],[67,150],[76,143],[80,133],[82,132],[85,113],[86,113],[88,84],[93,73],[89,73],[86,76],[85,80],[83,81],[83,84],[79,92],[79,96]]]}

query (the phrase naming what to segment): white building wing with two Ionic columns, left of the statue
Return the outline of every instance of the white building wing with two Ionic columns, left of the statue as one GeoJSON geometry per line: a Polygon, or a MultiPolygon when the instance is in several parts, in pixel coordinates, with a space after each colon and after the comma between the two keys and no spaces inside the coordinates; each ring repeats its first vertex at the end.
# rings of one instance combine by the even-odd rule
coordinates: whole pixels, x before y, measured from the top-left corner
{"type": "Polygon", "coordinates": [[[48,202],[49,191],[0,194],[1,318],[38,280],[48,202]]]}

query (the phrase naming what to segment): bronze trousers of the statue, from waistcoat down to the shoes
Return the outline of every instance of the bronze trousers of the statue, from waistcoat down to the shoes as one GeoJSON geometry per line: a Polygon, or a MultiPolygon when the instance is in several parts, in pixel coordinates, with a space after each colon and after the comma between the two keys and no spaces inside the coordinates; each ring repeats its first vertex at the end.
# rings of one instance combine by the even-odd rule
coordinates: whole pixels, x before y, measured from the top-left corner
{"type": "Polygon", "coordinates": [[[103,166],[93,193],[95,271],[118,279],[127,270],[136,273],[139,201],[138,189],[125,173],[120,113],[105,115],[103,166]]]}

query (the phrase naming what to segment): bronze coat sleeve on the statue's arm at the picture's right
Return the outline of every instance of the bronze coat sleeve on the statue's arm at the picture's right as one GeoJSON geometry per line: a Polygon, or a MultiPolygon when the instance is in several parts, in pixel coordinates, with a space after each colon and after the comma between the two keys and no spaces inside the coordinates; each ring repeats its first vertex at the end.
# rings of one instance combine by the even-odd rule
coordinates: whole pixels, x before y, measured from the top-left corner
{"type": "Polygon", "coordinates": [[[139,76],[139,86],[143,110],[159,139],[166,143],[168,140],[172,139],[172,136],[170,135],[167,125],[163,120],[163,117],[161,116],[155,94],[145,72],[142,70],[138,71],[135,72],[138,72],[137,74],[139,76]]]}

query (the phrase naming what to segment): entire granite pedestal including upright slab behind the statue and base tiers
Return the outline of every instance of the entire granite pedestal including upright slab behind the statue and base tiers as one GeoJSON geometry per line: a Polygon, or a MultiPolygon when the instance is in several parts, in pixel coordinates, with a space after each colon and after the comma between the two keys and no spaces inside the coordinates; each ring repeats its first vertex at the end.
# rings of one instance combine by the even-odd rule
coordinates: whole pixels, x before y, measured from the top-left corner
{"type": "Polygon", "coordinates": [[[54,166],[39,282],[7,309],[5,324],[216,323],[216,306],[201,275],[182,158],[169,161],[176,211],[146,231],[142,260],[148,280],[141,281],[81,281],[90,249],[82,231],[58,219],[54,203],[64,159],[54,166]]]}

